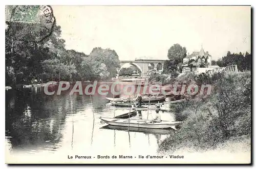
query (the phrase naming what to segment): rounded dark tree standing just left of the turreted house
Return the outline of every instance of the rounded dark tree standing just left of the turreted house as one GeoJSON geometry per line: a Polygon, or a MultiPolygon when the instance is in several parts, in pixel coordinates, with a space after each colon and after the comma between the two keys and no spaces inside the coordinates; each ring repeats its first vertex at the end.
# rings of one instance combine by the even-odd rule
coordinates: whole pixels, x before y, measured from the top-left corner
{"type": "Polygon", "coordinates": [[[168,49],[167,57],[169,60],[172,59],[183,59],[186,57],[187,50],[185,47],[182,47],[180,44],[174,44],[168,49]]]}

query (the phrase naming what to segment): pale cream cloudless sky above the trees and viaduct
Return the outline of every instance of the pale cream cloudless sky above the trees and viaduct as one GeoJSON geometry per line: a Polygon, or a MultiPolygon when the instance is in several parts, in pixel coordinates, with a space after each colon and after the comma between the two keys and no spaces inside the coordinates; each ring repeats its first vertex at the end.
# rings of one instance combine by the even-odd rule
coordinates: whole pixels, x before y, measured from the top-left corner
{"type": "Polygon", "coordinates": [[[251,51],[250,6],[52,6],[67,49],[114,49],[120,60],[167,59],[178,43],[187,54],[217,60],[251,51]]]}

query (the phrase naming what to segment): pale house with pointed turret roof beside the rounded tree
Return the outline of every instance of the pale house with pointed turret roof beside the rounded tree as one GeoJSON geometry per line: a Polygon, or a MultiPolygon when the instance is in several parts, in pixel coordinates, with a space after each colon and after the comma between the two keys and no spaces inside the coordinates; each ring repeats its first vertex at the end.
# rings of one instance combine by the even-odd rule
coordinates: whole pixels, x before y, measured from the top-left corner
{"type": "Polygon", "coordinates": [[[194,51],[183,59],[183,71],[198,71],[198,68],[208,68],[211,66],[211,55],[204,51],[203,46],[200,51],[194,51]]]}

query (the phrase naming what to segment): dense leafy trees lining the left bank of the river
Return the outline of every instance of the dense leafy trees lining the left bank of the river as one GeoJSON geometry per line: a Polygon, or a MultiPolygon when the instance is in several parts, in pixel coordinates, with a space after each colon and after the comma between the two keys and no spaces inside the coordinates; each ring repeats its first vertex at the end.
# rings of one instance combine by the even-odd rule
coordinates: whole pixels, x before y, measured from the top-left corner
{"type": "Polygon", "coordinates": [[[89,55],[67,50],[60,26],[54,23],[47,35],[44,29],[43,23],[6,22],[6,86],[116,76],[120,61],[115,50],[95,47],[89,55]]]}

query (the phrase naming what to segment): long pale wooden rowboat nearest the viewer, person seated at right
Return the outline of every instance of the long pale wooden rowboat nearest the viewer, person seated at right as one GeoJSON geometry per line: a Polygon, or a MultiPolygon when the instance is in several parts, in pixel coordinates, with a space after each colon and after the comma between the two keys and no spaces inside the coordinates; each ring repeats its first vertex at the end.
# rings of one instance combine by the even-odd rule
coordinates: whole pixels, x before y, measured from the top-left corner
{"type": "Polygon", "coordinates": [[[138,127],[138,128],[153,128],[153,129],[163,129],[163,128],[173,128],[176,130],[176,125],[182,122],[172,122],[172,121],[161,121],[158,123],[150,123],[151,120],[141,120],[141,119],[117,119],[117,118],[107,118],[100,117],[103,122],[113,125],[113,126],[125,126],[125,127],[138,127]],[[130,123],[129,123],[130,121],[130,123]]]}

